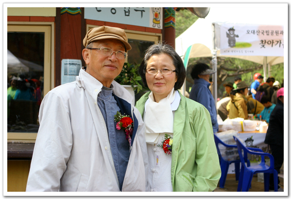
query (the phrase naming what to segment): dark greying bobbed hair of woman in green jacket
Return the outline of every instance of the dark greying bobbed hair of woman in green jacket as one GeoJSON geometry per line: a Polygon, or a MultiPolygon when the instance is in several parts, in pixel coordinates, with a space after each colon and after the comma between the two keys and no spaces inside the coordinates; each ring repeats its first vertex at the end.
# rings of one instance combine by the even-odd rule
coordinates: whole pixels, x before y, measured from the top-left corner
{"type": "Polygon", "coordinates": [[[142,78],[142,81],[146,87],[146,66],[148,60],[153,56],[153,55],[159,55],[159,54],[167,54],[170,57],[172,57],[173,60],[173,65],[175,66],[176,70],[176,77],[177,77],[177,82],[174,85],[174,89],[178,90],[179,88],[182,87],[185,77],[186,77],[186,69],[184,67],[183,61],[181,57],[178,55],[178,53],[175,51],[173,47],[171,47],[168,44],[163,44],[160,42],[159,44],[154,44],[148,47],[145,53],[145,58],[143,59],[141,65],[139,66],[138,73],[142,78]]]}

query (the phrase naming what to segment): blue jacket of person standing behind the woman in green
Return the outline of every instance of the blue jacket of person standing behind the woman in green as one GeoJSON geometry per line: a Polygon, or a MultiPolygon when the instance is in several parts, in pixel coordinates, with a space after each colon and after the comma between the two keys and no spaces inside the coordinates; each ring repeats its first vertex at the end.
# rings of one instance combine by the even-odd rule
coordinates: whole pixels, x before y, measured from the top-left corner
{"type": "Polygon", "coordinates": [[[194,85],[190,92],[190,99],[197,101],[207,108],[210,113],[213,133],[218,132],[217,112],[214,98],[209,90],[210,83],[199,78],[194,80],[194,85]]]}

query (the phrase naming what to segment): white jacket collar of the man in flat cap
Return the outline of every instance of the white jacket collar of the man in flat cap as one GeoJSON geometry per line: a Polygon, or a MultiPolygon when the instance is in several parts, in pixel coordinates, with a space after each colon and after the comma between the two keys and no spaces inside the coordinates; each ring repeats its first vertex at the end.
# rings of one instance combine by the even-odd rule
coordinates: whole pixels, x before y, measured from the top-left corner
{"type": "MultiPolygon", "coordinates": [[[[97,94],[103,87],[103,84],[100,83],[95,77],[87,73],[84,67],[80,69],[79,76],[76,77],[76,83],[80,88],[86,89],[94,99],[97,98],[97,94]]],[[[129,103],[133,102],[133,97],[122,85],[115,81],[112,82],[112,85],[114,95],[128,101],[129,103]]]]}

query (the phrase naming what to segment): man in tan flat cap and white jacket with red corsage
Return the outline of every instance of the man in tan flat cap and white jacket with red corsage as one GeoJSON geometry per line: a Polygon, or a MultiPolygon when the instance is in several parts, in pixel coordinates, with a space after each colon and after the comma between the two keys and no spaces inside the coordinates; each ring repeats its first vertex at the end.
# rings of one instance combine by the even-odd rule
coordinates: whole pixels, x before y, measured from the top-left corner
{"type": "Polygon", "coordinates": [[[145,125],[113,81],[131,49],[127,35],[93,28],[83,45],[87,67],[41,103],[26,191],[147,191],[145,125]]]}

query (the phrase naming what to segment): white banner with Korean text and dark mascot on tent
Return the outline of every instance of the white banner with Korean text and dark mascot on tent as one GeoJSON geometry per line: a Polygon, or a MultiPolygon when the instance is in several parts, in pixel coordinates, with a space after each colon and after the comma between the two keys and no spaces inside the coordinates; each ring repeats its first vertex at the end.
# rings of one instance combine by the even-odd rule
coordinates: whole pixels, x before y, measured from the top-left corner
{"type": "Polygon", "coordinates": [[[284,26],[214,24],[220,55],[284,56],[284,26]]]}

